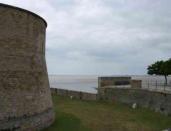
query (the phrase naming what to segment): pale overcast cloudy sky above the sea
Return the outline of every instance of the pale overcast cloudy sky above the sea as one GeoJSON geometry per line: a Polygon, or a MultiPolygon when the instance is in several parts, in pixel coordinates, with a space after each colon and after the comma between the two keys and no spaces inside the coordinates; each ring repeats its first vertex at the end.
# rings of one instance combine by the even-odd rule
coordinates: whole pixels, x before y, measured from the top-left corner
{"type": "Polygon", "coordinates": [[[1,0],[48,23],[49,74],[144,75],[171,57],[171,0],[1,0]]]}

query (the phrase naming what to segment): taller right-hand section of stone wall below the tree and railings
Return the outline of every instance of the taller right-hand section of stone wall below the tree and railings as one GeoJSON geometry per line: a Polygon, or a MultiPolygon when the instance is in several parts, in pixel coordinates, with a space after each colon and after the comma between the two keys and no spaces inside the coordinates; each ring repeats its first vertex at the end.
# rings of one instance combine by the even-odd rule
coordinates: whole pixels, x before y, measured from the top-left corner
{"type": "Polygon", "coordinates": [[[171,115],[171,94],[138,88],[99,88],[99,100],[124,103],[149,108],[156,112],[171,115]]]}

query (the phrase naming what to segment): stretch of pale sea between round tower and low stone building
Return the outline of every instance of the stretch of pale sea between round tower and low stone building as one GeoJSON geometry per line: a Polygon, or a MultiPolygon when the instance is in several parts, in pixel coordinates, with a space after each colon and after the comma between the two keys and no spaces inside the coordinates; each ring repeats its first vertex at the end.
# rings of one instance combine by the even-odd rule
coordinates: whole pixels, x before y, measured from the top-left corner
{"type": "Polygon", "coordinates": [[[97,93],[97,76],[49,75],[51,88],[97,93]]]}

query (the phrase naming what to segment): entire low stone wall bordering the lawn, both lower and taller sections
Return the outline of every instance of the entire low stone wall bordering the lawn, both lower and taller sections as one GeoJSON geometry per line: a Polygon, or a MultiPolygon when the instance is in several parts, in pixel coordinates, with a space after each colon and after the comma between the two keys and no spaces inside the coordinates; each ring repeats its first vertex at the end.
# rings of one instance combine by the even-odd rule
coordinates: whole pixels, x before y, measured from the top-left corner
{"type": "Polygon", "coordinates": [[[51,88],[51,93],[79,100],[102,100],[149,108],[165,115],[171,115],[171,94],[149,91],[140,88],[99,88],[98,94],[51,88]]]}

